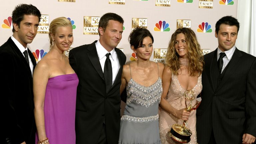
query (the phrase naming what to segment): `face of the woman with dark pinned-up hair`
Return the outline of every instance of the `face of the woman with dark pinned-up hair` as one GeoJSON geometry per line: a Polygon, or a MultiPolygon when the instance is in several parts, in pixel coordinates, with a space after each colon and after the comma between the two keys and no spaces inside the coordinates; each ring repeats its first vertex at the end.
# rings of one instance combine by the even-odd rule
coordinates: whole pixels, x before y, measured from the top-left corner
{"type": "Polygon", "coordinates": [[[134,49],[132,46],[132,49],[136,53],[137,59],[149,60],[153,51],[152,39],[147,36],[143,39],[141,47],[134,49]]]}

